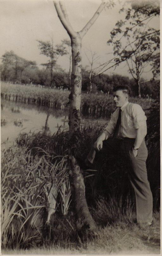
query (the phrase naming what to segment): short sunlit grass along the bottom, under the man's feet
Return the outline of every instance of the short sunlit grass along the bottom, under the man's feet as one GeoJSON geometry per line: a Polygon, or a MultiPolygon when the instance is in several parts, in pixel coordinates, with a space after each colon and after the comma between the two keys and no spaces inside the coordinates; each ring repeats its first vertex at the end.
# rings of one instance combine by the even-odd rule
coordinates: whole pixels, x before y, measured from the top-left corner
{"type": "MultiPolygon", "coordinates": [[[[107,213],[108,214],[108,213],[107,213]]],[[[159,254],[160,221],[159,213],[154,213],[154,224],[146,230],[140,230],[129,223],[128,216],[106,226],[98,226],[95,233],[85,231],[75,234],[73,241],[62,240],[55,244],[45,244],[29,250],[2,250],[3,254],[159,254]],[[124,220],[125,218],[125,220],[124,220]]],[[[114,219],[114,217],[113,217],[114,219]]]]}

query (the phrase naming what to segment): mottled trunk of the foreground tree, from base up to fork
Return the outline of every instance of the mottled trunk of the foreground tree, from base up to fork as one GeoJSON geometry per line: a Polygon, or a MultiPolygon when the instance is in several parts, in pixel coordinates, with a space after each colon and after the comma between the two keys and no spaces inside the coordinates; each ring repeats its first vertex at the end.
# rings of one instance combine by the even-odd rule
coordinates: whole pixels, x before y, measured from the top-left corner
{"type": "Polygon", "coordinates": [[[72,46],[72,81],[69,96],[69,166],[70,180],[74,190],[77,227],[88,227],[94,230],[96,225],[89,212],[85,197],[84,178],[75,159],[75,150],[80,143],[80,105],[81,105],[81,38],[79,33],[71,39],[72,46]]]}

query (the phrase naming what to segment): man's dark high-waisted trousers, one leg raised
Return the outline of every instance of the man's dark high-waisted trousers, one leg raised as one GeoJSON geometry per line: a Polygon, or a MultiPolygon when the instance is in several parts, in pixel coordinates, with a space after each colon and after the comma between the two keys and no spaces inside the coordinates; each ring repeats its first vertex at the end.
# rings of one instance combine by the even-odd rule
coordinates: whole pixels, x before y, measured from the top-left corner
{"type": "Polygon", "coordinates": [[[126,161],[128,177],[135,193],[137,222],[152,222],[153,199],[146,169],[148,151],[143,140],[137,156],[134,157],[132,152],[134,141],[135,139],[130,138],[108,138],[103,141],[103,147],[100,152],[96,152],[95,158],[102,163],[104,158],[115,154],[117,161],[121,157],[126,161]]]}

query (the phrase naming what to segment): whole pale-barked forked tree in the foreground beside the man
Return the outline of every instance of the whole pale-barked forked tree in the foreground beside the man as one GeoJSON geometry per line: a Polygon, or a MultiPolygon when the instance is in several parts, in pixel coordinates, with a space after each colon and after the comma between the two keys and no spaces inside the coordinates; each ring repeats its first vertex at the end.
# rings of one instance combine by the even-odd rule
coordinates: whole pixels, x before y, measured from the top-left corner
{"type": "Polygon", "coordinates": [[[90,27],[94,24],[95,20],[99,17],[101,11],[106,5],[112,6],[113,2],[102,1],[93,17],[79,32],[74,31],[72,25],[69,22],[68,14],[63,1],[54,1],[55,9],[58,17],[68,32],[71,39],[72,47],[72,77],[71,77],[71,93],[69,95],[69,175],[71,177],[71,185],[73,188],[73,196],[75,199],[75,209],[77,213],[77,227],[88,227],[90,230],[94,230],[96,225],[89,212],[86,197],[85,197],[85,185],[83,175],[81,174],[80,167],[75,158],[75,151],[79,145],[80,137],[80,106],[81,106],[81,42],[82,38],[88,32],[90,27]]]}

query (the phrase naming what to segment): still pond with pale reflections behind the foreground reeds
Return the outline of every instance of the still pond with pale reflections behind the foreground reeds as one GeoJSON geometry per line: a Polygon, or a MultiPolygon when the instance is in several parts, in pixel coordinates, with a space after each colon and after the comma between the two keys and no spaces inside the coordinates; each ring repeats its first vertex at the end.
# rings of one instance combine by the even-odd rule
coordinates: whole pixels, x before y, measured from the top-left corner
{"type": "MultiPolygon", "coordinates": [[[[81,125],[100,126],[104,119],[82,118],[81,125]]],[[[45,132],[53,134],[68,129],[68,110],[55,110],[43,106],[1,100],[1,149],[15,143],[20,133],[45,132]]]]}

